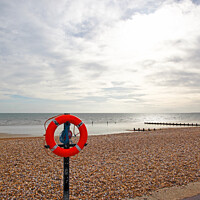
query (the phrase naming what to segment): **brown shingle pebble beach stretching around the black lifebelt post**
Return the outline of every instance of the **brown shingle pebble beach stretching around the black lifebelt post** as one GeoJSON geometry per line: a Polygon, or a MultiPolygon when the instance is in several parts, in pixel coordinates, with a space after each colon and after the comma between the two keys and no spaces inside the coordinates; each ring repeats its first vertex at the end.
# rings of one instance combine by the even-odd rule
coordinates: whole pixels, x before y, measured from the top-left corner
{"type": "MultiPolygon", "coordinates": [[[[0,139],[0,199],[63,198],[63,158],[46,154],[43,142],[0,139]]],[[[89,136],[87,143],[70,158],[70,199],[128,200],[200,182],[199,127],[89,136]]]]}

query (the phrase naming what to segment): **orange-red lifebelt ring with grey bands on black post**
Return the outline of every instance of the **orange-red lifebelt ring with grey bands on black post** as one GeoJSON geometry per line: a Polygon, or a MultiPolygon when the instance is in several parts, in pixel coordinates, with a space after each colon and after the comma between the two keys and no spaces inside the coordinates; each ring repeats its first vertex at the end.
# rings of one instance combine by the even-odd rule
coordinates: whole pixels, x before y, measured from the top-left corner
{"type": "Polygon", "coordinates": [[[85,146],[87,142],[87,137],[88,137],[88,134],[87,134],[87,128],[85,124],[78,117],[75,117],[69,114],[60,115],[56,117],[55,119],[53,119],[53,121],[51,121],[51,123],[48,125],[46,134],[45,134],[46,143],[51,149],[51,151],[54,154],[61,157],[70,157],[70,156],[74,156],[78,154],[85,146]],[[74,124],[80,131],[80,138],[79,138],[78,143],[70,149],[63,149],[59,147],[54,140],[54,133],[55,133],[56,128],[59,125],[66,122],[70,122],[74,124]]]}

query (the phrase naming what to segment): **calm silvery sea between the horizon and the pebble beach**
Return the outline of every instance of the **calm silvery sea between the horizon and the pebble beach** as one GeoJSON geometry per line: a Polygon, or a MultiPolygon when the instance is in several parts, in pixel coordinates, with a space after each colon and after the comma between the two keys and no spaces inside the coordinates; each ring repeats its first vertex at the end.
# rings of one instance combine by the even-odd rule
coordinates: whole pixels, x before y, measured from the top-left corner
{"type": "MultiPolygon", "coordinates": [[[[89,135],[126,132],[133,128],[160,128],[144,122],[200,123],[200,113],[135,114],[135,113],[72,113],[86,125],[89,135]]],[[[56,113],[0,113],[0,133],[42,136],[44,122],[56,113]]],[[[169,127],[169,126],[168,126],[169,127]]],[[[167,126],[162,126],[167,128],[167,126]]],[[[73,129],[73,126],[71,126],[73,129]]],[[[62,131],[60,126],[57,132],[62,131]]],[[[78,130],[76,130],[78,131],[78,130]]]]}

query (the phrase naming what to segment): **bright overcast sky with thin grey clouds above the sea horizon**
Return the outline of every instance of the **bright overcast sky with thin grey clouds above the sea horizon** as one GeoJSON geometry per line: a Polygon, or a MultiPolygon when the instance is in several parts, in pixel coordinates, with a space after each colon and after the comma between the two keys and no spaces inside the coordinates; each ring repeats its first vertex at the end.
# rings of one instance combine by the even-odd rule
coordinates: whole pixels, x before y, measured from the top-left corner
{"type": "Polygon", "coordinates": [[[0,112],[200,112],[200,0],[0,0],[0,112]]]}

